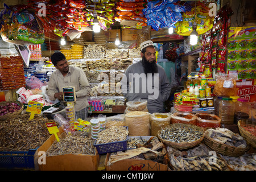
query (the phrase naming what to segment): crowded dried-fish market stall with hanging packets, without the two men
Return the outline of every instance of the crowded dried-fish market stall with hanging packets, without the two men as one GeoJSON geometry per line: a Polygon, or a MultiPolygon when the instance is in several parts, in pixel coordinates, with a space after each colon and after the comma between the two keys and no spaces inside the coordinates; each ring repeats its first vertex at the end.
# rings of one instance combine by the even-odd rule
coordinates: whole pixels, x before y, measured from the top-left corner
{"type": "Polygon", "coordinates": [[[233,26],[230,4],[28,1],[1,9],[0,169],[256,170],[256,25],[233,26]],[[160,113],[121,89],[145,40],[170,75],[160,113]],[[54,52],[86,75],[85,119],[75,117],[75,90],[64,103],[47,95],[54,52]]]}

